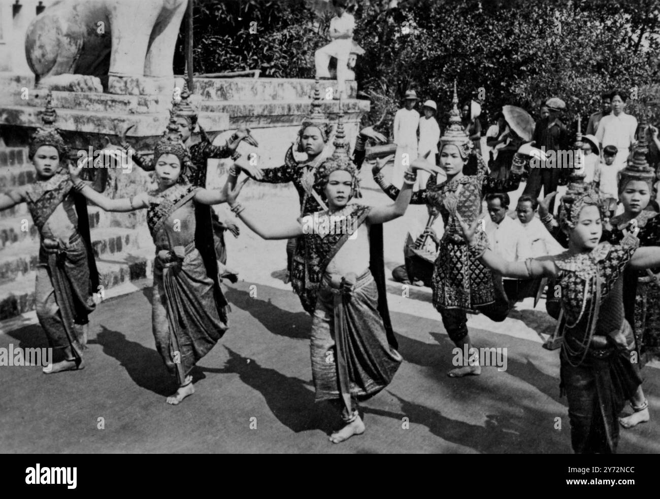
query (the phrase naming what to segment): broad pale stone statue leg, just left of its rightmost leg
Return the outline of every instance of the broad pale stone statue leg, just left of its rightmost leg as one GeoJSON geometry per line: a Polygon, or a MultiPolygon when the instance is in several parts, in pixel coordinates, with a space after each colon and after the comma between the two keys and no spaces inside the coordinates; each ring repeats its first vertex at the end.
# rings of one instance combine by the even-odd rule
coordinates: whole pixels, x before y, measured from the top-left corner
{"type": "Polygon", "coordinates": [[[108,5],[112,25],[110,76],[143,76],[145,57],[162,0],[114,0],[108,5]]]}

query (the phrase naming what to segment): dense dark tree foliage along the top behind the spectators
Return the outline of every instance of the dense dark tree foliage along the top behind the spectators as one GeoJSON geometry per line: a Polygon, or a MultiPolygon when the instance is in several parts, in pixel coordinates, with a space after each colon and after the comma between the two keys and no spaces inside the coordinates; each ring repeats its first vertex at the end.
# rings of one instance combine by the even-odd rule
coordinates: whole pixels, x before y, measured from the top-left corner
{"type": "MultiPolygon", "coordinates": [[[[197,0],[195,71],[313,78],[314,51],[327,43],[331,17],[320,3],[197,0]]],[[[393,115],[412,88],[436,100],[442,121],[454,80],[461,102],[484,97],[485,118],[504,104],[536,115],[540,102],[559,96],[566,121],[579,114],[586,123],[612,88],[632,90],[638,99],[631,109],[657,100],[650,85],[659,76],[660,0],[400,0],[393,9],[383,0],[354,3],[355,40],[366,50],[356,79],[372,95],[372,117],[383,109],[393,115]]]]}

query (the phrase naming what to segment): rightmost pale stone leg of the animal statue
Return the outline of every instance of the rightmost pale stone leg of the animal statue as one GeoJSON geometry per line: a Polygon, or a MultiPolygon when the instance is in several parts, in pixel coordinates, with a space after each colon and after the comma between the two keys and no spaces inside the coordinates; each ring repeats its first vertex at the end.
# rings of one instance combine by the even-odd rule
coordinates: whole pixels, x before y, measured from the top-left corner
{"type": "Polygon", "coordinates": [[[187,5],[187,0],[162,0],[162,10],[149,39],[145,76],[174,76],[174,49],[187,5]]]}

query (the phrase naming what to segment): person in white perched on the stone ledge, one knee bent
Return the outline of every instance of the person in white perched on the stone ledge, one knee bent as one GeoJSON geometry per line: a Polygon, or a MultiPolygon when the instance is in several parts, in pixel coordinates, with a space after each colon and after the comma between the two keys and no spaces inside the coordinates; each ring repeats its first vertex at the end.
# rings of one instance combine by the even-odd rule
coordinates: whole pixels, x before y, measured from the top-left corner
{"type": "Polygon", "coordinates": [[[330,78],[328,65],[331,57],[337,57],[337,92],[346,94],[348,56],[353,46],[355,18],[346,11],[346,0],[333,0],[337,15],[330,20],[328,34],[332,42],[314,53],[317,78],[330,78]]]}

